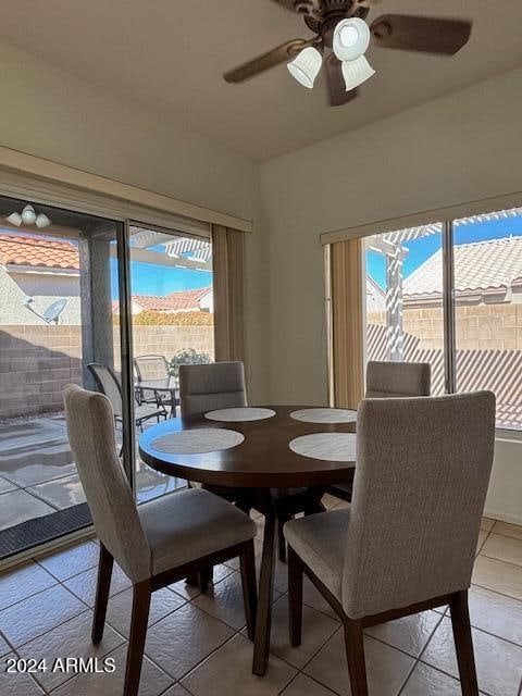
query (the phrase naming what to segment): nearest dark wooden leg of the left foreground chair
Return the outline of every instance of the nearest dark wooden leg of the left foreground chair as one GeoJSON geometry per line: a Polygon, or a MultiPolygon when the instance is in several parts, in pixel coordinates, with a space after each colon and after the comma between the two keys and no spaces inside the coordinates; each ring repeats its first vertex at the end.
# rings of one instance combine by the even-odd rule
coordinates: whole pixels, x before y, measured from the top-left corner
{"type": "Polygon", "coordinates": [[[138,694],[149,608],[150,581],[146,580],[137,583],[133,588],[133,616],[130,619],[130,637],[128,639],[123,696],[137,696],[138,694]]]}

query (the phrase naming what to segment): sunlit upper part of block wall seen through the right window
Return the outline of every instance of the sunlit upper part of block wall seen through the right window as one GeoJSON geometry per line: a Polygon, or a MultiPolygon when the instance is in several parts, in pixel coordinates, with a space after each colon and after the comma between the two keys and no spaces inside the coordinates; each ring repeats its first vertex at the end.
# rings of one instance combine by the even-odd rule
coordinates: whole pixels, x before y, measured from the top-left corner
{"type": "MultiPolygon", "coordinates": [[[[443,348],[443,309],[406,307],[403,330],[420,338],[421,350],[443,348]]],[[[386,325],[386,312],[369,312],[368,322],[386,325]]],[[[457,347],[480,350],[522,349],[522,304],[477,304],[456,308],[457,347]]]]}

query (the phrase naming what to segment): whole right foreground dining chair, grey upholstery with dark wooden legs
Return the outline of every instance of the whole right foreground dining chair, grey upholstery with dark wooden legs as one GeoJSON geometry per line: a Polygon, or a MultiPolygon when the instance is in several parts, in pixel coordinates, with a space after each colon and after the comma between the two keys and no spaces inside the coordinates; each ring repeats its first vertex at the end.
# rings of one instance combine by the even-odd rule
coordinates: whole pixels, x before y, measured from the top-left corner
{"type": "Polygon", "coordinates": [[[363,630],[449,605],[463,696],[477,696],[468,588],[493,463],[495,396],[369,399],[353,500],[285,525],[290,642],[308,575],[344,624],[351,696],[366,696],[363,630]]]}

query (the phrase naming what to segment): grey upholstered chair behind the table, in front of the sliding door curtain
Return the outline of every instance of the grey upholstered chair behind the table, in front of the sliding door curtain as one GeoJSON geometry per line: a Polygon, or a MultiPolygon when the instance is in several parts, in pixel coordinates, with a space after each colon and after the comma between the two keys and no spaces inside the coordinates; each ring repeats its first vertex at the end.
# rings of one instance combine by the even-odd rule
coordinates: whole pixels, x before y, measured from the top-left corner
{"type": "MultiPolygon", "coordinates": [[[[243,362],[179,365],[179,405],[182,417],[199,415],[216,409],[248,406],[243,362]]],[[[248,497],[245,489],[223,486],[209,486],[209,489],[227,500],[236,501],[246,512],[254,506],[254,501],[248,497]]],[[[323,508],[322,506],[313,507],[304,488],[274,489],[273,496],[278,522],[278,555],[279,559],[285,562],[286,543],[283,534],[285,522],[298,512],[318,512],[323,508]]]]}

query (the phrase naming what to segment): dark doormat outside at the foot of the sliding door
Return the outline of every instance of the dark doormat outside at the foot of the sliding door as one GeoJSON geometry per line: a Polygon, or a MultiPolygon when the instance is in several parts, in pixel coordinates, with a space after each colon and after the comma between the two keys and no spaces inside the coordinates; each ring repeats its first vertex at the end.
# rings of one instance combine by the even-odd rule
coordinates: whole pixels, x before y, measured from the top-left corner
{"type": "Polygon", "coordinates": [[[92,524],[86,502],[0,531],[0,560],[92,524]]]}

